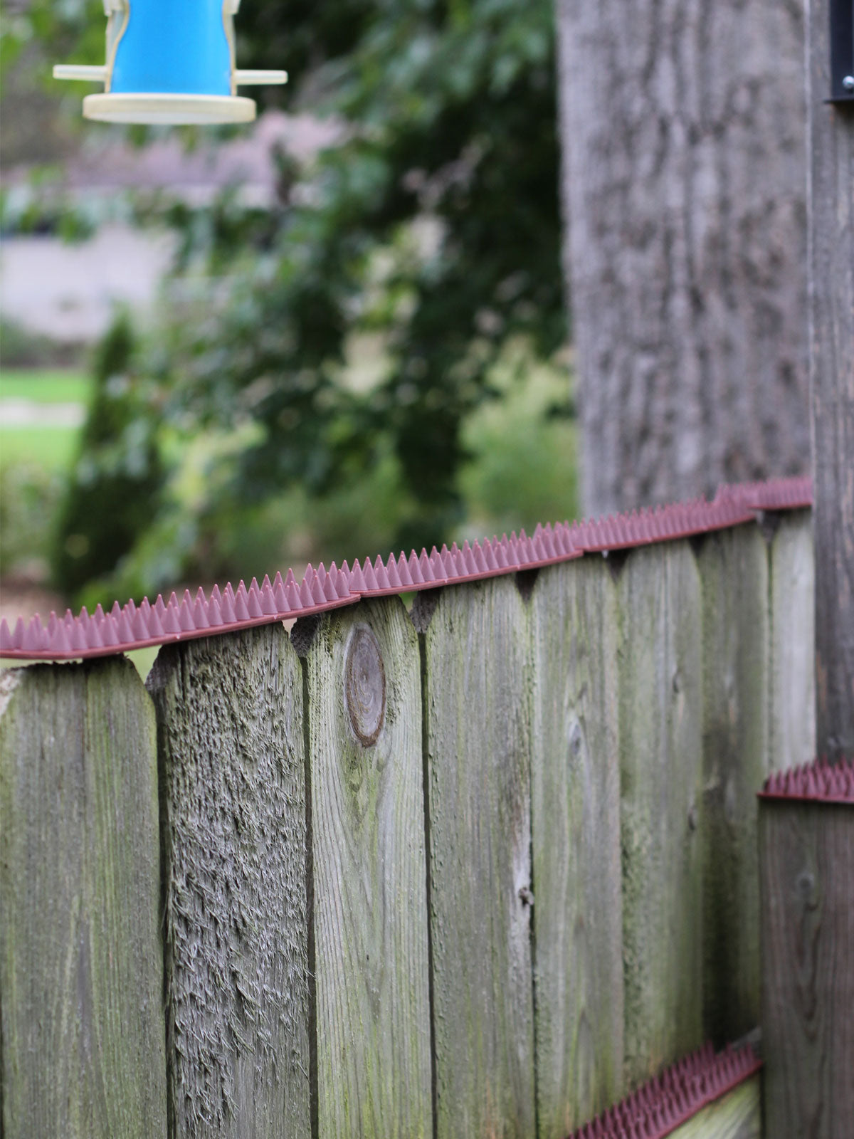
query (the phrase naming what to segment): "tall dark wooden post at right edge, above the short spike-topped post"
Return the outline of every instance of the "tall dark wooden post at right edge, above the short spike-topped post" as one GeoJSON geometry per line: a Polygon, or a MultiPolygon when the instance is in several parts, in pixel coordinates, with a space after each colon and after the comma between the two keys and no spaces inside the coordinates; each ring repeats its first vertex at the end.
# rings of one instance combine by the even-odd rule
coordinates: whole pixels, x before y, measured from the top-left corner
{"type": "Polygon", "coordinates": [[[828,0],[807,0],[810,390],[818,751],[854,755],[854,107],[828,106],[828,0]]]}

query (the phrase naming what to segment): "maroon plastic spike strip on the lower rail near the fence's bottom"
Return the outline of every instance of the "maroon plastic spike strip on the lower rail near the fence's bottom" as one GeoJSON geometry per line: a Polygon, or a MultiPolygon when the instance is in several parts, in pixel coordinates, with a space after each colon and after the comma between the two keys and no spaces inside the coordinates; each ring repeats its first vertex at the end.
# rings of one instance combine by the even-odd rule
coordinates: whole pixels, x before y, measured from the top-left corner
{"type": "Polygon", "coordinates": [[[663,1139],[762,1067],[749,1044],[712,1044],[665,1068],[569,1139],[663,1139]]]}

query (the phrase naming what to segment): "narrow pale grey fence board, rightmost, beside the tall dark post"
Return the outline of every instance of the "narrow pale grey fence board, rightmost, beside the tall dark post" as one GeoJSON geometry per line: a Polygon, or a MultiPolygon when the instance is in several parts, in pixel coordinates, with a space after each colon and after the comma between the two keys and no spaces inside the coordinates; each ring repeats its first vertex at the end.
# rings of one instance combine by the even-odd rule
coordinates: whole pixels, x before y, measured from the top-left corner
{"type": "Polygon", "coordinates": [[[771,541],[769,771],[815,759],[815,558],[812,516],[779,518],[771,541]]]}

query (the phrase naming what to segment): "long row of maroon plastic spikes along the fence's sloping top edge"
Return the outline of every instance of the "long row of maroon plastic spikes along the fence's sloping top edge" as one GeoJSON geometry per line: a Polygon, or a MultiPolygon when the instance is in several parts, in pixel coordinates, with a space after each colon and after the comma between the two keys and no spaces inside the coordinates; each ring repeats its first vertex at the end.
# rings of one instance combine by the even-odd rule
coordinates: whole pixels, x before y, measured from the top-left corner
{"type": "Polygon", "coordinates": [[[130,649],[166,645],[271,624],[310,614],[323,613],[343,605],[354,605],[363,597],[383,597],[412,590],[435,589],[516,573],[539,570],[567,562],[584,554],[625,550],[638,546],[672,541],[726,530],[752,522],[763,511],[789,510],[812,506],[812,481],[808,477],[778,478],[764,483],[722,485],[715,498],[695,499],[667,506],[609,515],[583,522],[537,525],[528,536],[522,530],[517,536],[503,534],[462,548],[454,542],[449,549],[433,547],[407,556],[391,554],[387,560],[377,558],[352,568],[332,563],[326,570],[311,564],[297,583],[293,570],[282,579],[268,576],[258,585],[252,579],[248,588],[241,581],[223,590],[217,585],[205,596],[202,588],[194,597],[189,590],[181,599],[175,593],[167,601],[158,596],[151,605],[143,598],[120,606],[115,601],[105,613],[99,605],[90,614],[85,607],[75,616],[71,609],[64,616],[51,613],[46,622],[39,614],[25,622],[18,617],[14,629],[0,622],[0,657],[9,659],[68,661],[82,657],[110,656],[130,649]]]}

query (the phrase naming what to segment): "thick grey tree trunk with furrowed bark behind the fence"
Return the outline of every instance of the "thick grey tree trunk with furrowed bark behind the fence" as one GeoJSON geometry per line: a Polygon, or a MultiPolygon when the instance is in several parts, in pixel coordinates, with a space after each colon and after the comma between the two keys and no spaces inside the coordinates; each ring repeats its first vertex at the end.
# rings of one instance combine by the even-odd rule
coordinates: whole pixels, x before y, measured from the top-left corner
{"type": "Polygon", "coordinates": [[[558,0],[588,514],[802,474],[802,5],[558,0]]]}

